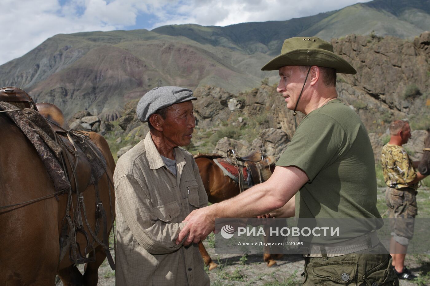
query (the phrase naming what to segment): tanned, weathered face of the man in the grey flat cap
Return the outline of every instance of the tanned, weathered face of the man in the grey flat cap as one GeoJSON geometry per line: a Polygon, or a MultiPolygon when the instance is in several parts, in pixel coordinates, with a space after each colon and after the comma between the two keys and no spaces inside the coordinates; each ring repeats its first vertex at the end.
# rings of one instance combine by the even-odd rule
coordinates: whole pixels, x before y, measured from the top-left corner
{"type": "Polygon", "coordinates": [[[191,143],[196,118],[191,101],[176,103],[170,106],[166,119],[161,123],[163,136],[172,146],[187,146],[191,143]]]}

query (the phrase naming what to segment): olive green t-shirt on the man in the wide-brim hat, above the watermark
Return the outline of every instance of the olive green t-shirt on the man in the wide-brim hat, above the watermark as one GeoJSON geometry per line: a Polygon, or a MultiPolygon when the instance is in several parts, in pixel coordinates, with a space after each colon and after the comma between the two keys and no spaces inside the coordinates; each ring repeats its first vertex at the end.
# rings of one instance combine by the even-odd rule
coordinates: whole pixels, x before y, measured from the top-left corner
{"type": "Polygon", "coordinates": [[[340,100],[304,117],[276,166],[298,167],[309,178],[295,196],[296,217],[370,218],[354,226],[357,233],[382,227],[369,135],[340,100]]]}

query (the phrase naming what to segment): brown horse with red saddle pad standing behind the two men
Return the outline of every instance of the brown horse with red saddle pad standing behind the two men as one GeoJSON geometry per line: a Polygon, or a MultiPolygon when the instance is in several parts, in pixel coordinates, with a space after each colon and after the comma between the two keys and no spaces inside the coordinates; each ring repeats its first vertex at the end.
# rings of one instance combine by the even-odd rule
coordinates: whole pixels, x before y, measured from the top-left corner
{"type": "MultiPolygon", "coordinates": [[[[224,176],[223,171],[215,164],[210,155],[197,155],[195,160],[197,166],[199,167],[200,176],[202,177],[203,185],[206,189],[209,202],[215,204],[239,195],[239,184],[231,180],[230,177],[224,176]]],[[[272,167],[274,168],[274,166],[272,167]]],[[[272,167],[271,171],[273,172],[272,167]]],[[[212,270],[218,266],[212,261],[201,241],[199,243],[199,250],[205,265],[209,265],[209,270],[212,270]]],[[[275,259],[279,259],[281,257],[282,254],[264,253],[264,262],[267,263],[268,267],[271,267],[276,265],[275,259]]]]}

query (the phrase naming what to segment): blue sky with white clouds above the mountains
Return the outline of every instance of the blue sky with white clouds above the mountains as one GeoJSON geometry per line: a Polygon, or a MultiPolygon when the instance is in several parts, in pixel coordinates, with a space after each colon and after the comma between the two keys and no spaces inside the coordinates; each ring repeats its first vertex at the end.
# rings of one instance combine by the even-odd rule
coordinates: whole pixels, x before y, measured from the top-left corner
{"type": "Polygon", "coordinates": [[[284,21],[369,0],[0,0],[0,64],[58,33],[284,21]]]}

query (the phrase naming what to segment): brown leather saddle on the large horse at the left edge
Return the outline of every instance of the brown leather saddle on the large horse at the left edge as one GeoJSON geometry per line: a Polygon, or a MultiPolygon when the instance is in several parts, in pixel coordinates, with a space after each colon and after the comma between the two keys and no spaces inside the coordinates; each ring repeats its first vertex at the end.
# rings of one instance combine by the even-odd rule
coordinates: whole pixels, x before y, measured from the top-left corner
{"type": "Polygon", "coordinates": [[[46,121],[54,131],[54,137],[62,149],[63,162],[60,164],[68,174],[72,191],[83,192],[91,179],[91,164],[84,152],[74,143],[74,139],[68,136],[70,127],[61,110],[52,103],[34,103],[27,92],[14,86],[0,88],[0,101],[11,103],[21,110],[31,108],[47,119],[46,121]]]}

